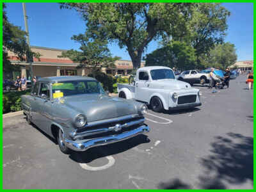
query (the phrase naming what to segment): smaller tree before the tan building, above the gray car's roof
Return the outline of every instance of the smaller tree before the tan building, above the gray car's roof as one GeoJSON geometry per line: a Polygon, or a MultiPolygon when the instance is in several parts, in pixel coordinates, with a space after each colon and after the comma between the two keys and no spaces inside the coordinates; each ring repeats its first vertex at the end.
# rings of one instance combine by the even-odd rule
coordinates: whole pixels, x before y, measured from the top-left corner
{"type": "Polygon", "coordinates": [[[79,67],[92,67],[92,74],[95,77],[95,72],[99,67],[115,67],[115,61],[119,57],[112,57],[109,52],[107,41],[100,39],[90,39],[86,34],[74,35],[71,38],[75,40],[81,47],[81,51],[74,49],[62,52],[60,58],[70,58],[75,63],[79,63],[79,67]]]}

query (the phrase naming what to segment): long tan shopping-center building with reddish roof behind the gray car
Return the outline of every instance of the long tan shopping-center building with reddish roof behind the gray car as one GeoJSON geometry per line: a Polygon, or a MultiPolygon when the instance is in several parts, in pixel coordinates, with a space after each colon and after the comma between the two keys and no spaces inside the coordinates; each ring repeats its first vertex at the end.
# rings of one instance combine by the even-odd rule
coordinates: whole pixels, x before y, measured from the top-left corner
{"type": "MultiPolygon", "coordinates": [[[[34,76],[87,76],[92,71],[90,67],[77,68],[79,63],[74,63],[68,58],[58,58],[58,56],[61,56],[61,52],[67,50],[36,46],[31,46],[31,50],[41,54],[40,60],[34,58],[32,63],[34,76]]],[[[8,51],[8,56],[13,65],[20,65],[20,70],[10,72],[10,74],[3,74],[4,78],[15,79],[17,76],[25,76],[27,78],[30,77],[29,63],[19,61],[17,56],[10,51],[8,51]]],[[[145,62],[141,61],[141,67],[144,65],[145,62]]],[[[128,75],[131,73],[133,68],[132,61],[128,60],[118,60],[116,61],[115,66],[115,68],[101,68],[101,70],[102,72],[110,75],[128,75]]]]}

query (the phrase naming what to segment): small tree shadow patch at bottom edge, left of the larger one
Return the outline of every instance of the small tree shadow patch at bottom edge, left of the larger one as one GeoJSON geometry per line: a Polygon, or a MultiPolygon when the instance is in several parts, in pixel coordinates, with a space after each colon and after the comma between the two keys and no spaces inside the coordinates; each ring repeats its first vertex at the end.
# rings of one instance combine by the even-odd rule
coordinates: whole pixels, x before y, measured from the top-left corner
{"type": "Polygon", "coordinates": [[[191,189],[191,186],[185,184],[180,179],[173,179],[169,182],[161,182],[158,186],[158,189],[191,189]]]}

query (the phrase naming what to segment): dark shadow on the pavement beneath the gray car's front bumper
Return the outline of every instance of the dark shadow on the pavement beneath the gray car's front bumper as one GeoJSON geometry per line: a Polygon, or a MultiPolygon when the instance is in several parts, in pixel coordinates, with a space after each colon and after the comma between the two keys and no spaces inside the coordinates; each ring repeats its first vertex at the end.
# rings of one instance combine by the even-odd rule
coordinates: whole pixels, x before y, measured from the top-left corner
{"type": "Polygon", "coordinates": [[[111,143],[108,145],[102,145],[99,147],[89,148],[84,152],[73,152],[70,154],[70,159],[76,161],[77,163],[90,163],[95,159],[100,157],[111,156],[113,154],[119,154],[130,148],[136,147],[142,143],[149,143],[150,140],[145,134],[139,134],[134,138],[128,140],[120,141],[117,143],[111,143]]]}

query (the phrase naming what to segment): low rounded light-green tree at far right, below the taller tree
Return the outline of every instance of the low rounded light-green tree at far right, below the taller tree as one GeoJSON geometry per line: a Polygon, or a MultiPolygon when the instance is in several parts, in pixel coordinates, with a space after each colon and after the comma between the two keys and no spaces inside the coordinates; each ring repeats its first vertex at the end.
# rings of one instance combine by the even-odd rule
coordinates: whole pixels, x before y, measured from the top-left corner
{"type": "Polygon", "coordinates": [[[205,67],[227,68],[236,63],[237,54],[234,44],[229,42],[216,45],[209,54],[202,56],[201,61],[205,67]]]}

